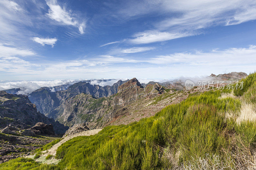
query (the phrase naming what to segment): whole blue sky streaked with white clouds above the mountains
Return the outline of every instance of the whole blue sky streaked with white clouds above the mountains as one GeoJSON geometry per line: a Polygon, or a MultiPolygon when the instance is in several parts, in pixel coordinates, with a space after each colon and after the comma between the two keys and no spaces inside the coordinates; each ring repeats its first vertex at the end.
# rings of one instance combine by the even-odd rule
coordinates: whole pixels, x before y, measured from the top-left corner
{"type": "Polygon", "coordinates": [[[0,1],[0,79],[255,70],[255,0],[0,1]]]}

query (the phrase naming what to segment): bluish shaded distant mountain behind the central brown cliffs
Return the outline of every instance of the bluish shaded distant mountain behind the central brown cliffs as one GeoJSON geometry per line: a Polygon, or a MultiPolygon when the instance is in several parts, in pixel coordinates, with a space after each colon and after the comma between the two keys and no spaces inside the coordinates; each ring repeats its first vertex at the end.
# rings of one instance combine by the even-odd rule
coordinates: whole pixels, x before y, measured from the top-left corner
{"type": "Polygon", "coordinates": [[[53,87],[54,89],[49,87],[42,87],[30,93],[29,100],[36,104],[38,111],[44,115],[54,118],[55,112],[52,111],[59,107],[63,102],[65,102],[66,99],[74,97],[80,93],[89,94],[96,98],[108,97],[117,93],[117,87],[127,81],[128,80],[119,80],[112,86],[91,85],[88,83],[88,81],[81,81],[70,85],[66,90],[62,91],[54,91],[55,87],[53,87]]]}

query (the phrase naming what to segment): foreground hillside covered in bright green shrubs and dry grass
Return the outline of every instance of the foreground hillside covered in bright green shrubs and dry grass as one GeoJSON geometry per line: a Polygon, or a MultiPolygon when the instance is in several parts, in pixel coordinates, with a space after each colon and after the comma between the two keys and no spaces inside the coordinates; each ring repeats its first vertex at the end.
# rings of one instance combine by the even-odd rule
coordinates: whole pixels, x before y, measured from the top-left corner
{"type": "Polygon", "coordinates": [[[0,169],[253,169],[256,73],[242,81],[242,90],[211,90],[139,122],[75,137],[58,148],[58,165],[19,158],[0,169]]]}

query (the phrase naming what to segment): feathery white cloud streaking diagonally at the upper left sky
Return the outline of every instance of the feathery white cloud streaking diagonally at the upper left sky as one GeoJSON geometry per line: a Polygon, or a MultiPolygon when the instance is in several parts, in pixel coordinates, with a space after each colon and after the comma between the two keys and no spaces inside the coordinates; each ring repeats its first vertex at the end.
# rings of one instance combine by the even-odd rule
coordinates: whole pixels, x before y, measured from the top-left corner
{"type": "Polygon", "coordinates": [[[72,11],[66,10],[65,7],[61,7],[57,0],[46,0],[46,4],[49,6],[47,15],[62,25],[77,26],[81,34],[84,33],[85,23],[79,23],[76,16],[72,11]]]}

